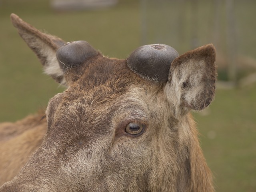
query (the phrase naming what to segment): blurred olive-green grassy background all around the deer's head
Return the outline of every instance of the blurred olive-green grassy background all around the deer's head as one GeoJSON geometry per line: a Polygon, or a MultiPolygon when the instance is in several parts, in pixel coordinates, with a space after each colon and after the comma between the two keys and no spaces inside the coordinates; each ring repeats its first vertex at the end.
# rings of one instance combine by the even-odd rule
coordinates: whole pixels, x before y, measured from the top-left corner
{"type": "MultiPolygon", "coordinates": [[[[177,2],[169,1],[163,9],[143,0],[120,0],[109,8],[56,12],[47,0],[0,0],[0,122],[45,109],[48,100],[64,90],[42,74],[36,56],[12,26],[11,13],[66,41],[86,40],[104,55],[117,58],[126,58],[138,46],[151,43],[169,44],[182,54],[192,48],[196,26],[198,46],[217,44],[219,80],[227,80],[225,5],[221,4],[216,41],[213,1],[199,0],[194,14],[192,0],[183,0],[182,6],[177,2]]],[[[236,0],[235,8],[237,53],[242,61],[244,57],[254,61],[256,2],[236,0]]],[[[238,65],[238,78],[255,72],[242,62],[238,65]]],[[[255,192],[256,83],[231,89],[217,86],[214,102],[194,117],[216,191],[255,192]]]]}

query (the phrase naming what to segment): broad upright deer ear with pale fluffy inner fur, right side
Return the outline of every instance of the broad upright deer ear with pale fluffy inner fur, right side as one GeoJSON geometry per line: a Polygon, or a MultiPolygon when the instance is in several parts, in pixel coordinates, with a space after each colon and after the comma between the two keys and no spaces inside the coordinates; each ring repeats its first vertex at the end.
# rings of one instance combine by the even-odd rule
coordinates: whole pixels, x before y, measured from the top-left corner
{"type": "Polygon", "coordinates": [[[170,67],[166,94],[176,108],[202,110],[215,93],[215,48],[212,44],[196,48],[176,58],[170,67]]]}

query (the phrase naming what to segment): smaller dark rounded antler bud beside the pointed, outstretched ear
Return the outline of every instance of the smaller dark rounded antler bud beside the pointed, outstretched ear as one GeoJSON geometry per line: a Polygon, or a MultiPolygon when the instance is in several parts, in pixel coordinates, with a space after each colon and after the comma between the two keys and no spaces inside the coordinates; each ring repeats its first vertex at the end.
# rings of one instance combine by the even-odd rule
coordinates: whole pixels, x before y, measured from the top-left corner
{"type": "Polygon", "coordinates": [[[58,62],[62,70],[83,64],[86,59],[98,54],[88,42],[76,41],[60,47],[56,53],[58,62]]]}

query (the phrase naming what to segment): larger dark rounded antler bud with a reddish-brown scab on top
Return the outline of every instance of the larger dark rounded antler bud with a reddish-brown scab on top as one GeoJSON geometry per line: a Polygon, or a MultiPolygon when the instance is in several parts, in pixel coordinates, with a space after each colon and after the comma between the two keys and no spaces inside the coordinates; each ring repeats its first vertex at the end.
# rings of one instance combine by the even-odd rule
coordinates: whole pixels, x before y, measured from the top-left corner
{"type": "Polygon", "coordinates": [[[168,80],[172,61],[178,56],[178,52],[168,45],[144,45],[130,54],[127,65],[141,78],[164,83],[168,80]]]}

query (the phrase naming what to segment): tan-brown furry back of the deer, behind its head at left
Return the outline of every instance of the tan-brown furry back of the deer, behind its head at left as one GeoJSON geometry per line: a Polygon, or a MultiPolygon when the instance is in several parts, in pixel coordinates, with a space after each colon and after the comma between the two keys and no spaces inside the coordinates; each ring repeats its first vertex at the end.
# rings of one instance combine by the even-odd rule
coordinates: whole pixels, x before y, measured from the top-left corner
{"type": "Polygon", "coordinates": [[[0,124],[0,185],[12,180],[40,147],[47,130],[44,114],[40,111],[15,123],[0,124]]]}

